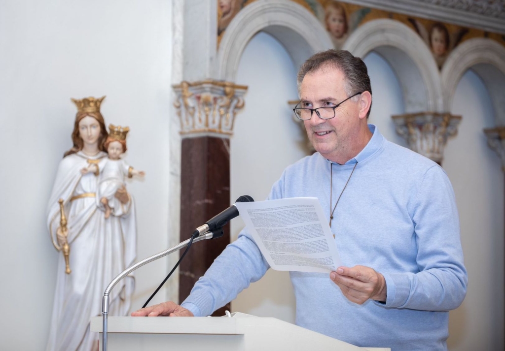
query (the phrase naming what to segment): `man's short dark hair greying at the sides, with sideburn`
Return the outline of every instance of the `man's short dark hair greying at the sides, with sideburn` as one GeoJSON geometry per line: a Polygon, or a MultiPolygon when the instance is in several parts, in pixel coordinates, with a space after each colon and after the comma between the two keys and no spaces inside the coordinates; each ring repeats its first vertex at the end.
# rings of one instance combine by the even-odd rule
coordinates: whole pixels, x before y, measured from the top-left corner
{"type": "MultiPolygon", "coordinates": [[[[354,95],[358,92],[368,91],[372,95],[372,86],[370,85],[370,77],[368,76],[367,66],[360,57],[353,56],[347,50],[330,49],[318,52],[301,65],[298,76],[297,85],[300,90],[301,82],[307,74],[314,73],[326,67],[336,68],[344,75],[344,90],[347,96],[354,95]]],[[[338,84],[338,82],[335,82],[338,84]]],[[[357,97],[352,98],[356,101],[357,97]]],[[[367,118],[370,115],[368,109],[367,118]]]]}

